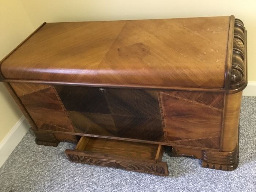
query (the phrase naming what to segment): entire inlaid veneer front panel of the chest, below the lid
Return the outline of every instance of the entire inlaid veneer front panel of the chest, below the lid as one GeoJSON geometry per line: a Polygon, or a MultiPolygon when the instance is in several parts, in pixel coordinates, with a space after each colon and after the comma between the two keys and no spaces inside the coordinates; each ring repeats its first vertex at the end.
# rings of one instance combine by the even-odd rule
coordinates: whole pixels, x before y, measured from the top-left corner
{"type": "Polygon", "coordinates": [[[38,129],[219,148],[224,94],[11,83],[38,129]]]}

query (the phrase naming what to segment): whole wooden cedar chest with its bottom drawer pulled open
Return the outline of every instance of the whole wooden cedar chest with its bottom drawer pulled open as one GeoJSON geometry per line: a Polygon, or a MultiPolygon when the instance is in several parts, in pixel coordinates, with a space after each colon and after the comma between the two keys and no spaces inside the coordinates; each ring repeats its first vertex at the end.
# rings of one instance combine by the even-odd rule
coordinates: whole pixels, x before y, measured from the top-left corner
{"type": "Polygon", "coordinates": [[[0,64],[37,144],[79,141],[71,161],[168,175],[171,146],[238,165],[247,64],[234,16],[43,23],[0,64]]]}

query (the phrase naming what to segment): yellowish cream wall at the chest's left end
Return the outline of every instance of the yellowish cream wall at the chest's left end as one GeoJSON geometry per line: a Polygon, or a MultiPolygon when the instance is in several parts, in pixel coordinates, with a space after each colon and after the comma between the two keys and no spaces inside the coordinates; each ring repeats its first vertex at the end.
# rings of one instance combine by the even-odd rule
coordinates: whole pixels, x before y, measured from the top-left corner
{"type": "MultiPolygon", "coordinates": [[[[19,0],[0,0],[0,26],[0,60],[34,29],[19,0]]],[[[0,142],[20,117],[18,106],[0,83],[0,142]]]]}

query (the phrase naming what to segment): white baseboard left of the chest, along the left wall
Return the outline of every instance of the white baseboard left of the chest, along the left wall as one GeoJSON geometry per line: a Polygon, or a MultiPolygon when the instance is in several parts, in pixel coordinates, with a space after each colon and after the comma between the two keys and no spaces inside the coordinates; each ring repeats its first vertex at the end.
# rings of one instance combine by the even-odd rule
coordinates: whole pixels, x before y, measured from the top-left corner
{"type": "Polygon", "coordinates": [[[27,119],[22,116],[10,132],[4,137],[3,141],[0,142],[0,167],[22,140],[29,128],[30,125],[27,122],[27,119]]]}

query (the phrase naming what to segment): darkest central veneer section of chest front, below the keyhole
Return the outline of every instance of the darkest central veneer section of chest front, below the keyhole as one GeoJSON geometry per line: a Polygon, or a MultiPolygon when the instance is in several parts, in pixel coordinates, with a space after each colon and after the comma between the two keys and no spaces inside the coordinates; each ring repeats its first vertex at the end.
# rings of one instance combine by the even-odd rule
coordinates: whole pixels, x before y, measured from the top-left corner
{"type": "Polygon", "coordinates": [[[55,86],[81,133],[164,142],[156,91],[55,86]],[[104,92],[104,91],[103,91],[104,92]]]}

